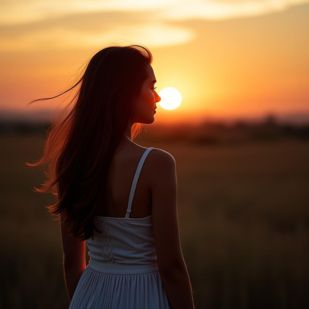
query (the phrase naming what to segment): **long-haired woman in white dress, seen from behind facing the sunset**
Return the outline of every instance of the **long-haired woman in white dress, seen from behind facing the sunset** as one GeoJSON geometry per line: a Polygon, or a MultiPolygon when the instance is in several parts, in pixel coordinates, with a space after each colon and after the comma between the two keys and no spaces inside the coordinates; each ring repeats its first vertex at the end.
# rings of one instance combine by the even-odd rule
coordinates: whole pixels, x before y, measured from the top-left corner
{"type": "Polygon", "coordinates": [[[97,52],[69,89],[79,85],[76,101],[51,125],[43,158],[27,163],[48,163],[35,189],[57,196],[47,208],[60,220],[70,309],[194,308],[175,159],[133,142],[161,99],[151,63],[139,45],[97,52]]]}

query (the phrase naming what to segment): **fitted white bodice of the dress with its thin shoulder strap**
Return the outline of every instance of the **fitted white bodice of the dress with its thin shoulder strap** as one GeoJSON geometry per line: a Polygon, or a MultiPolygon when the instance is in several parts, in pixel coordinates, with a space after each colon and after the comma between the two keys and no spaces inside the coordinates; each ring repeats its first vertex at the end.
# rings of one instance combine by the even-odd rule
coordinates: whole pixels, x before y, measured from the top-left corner
{"type": "Polygon", "coordinates": [[[87,239],[89,267],[101,273],[138,274],[158,271],[152,216],[129,218],[134,192],[146,156],[143,154],[136,170],[125,218],[95,216],[93,240],[87,239]]]}

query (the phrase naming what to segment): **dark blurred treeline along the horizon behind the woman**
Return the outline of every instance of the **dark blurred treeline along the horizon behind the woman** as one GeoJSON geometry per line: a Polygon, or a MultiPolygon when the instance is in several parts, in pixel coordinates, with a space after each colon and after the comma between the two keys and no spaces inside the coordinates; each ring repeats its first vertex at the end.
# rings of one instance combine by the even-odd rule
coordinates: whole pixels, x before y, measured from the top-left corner
{"type": "MultiPolygon", "coordinates": [[[[42,134],[50,126],[49,121],[26,122],[0,120],[0,134],[42,134]]],[[[282,138],[309,140],[309,123],[302,125],[276,122],[274,117],[266,117],[258,123],[236,121],[233,124],[205,121],[199,125],[145,125],[142,139],[166,142],[190,142],[196,144],[218,145],[237,144],[254,141],[275,141],[282,138]]],[[[137,140],[140,137],[137,137],[137,140]]]]}

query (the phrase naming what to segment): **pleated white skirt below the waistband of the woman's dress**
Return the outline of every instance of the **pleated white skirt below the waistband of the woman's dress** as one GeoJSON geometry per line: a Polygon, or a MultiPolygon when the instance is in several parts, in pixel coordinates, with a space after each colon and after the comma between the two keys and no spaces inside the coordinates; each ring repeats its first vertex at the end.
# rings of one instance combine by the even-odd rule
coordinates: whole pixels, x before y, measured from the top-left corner
{"type": "Polygon", "coordinates": [[[89,267],[79,278],[69,309],[172,309],[159,272],[118,275],[89,267]]]}

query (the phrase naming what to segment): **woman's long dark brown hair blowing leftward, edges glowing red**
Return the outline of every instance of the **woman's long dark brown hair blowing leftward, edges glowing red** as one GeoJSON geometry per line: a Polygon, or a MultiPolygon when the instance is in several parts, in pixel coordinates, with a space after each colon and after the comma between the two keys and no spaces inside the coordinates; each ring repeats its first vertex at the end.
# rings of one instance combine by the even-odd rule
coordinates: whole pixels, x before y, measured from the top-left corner
{"type": "MultiPolygon", "coordinates": [[[[51,192],[57,203],[45,206],[53,220],[70,222],[70,235],[81,241],[93,239],[94,214],[106,201],[107,177],[117,146],[132,123],[135,103],[151,52],[140,45],[108,46],[86,63],[73,99],[46,130],[44,153],[36,163],[47,164],[46,180],[34,192],[51,192]]],[[[76,90],[75,89],[75,90],[76,90]]],[[[59,95],[57,95],[59,96],[59,95]]],[[[35,101],[53,99],[57,96],[35,101]]],[[[131,129],[134,139],[143,125],[131,129]]]]}

